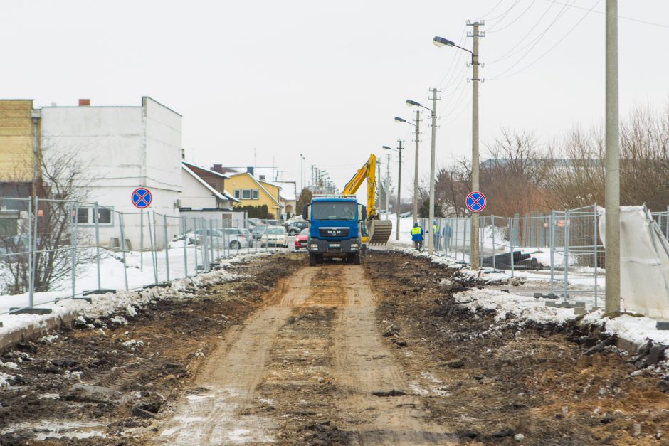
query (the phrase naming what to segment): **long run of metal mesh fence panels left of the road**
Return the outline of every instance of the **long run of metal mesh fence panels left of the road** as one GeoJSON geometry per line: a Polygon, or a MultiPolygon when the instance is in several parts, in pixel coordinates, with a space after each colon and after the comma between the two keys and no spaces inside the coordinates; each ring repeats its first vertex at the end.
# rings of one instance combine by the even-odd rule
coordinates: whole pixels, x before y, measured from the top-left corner
{"type": "Polygon", "coordinates": [[[277,221],[124,213],[97,203],[0,197],[0,314],[137,290],[209,272],[243,253],[293,246],[277,221]]]}

